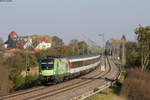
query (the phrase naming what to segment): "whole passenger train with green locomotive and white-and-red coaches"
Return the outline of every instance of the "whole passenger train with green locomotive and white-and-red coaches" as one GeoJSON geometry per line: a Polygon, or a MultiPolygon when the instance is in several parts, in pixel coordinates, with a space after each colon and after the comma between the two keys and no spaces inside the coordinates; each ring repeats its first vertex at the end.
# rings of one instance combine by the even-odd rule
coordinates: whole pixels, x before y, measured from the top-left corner
{"type": "Polygon", "coordinates": [[[39,78],[42,84],[59,83],[87,74],[100,64],[100,54],[88,56],[54,57],[39,61],[39,78]]]}

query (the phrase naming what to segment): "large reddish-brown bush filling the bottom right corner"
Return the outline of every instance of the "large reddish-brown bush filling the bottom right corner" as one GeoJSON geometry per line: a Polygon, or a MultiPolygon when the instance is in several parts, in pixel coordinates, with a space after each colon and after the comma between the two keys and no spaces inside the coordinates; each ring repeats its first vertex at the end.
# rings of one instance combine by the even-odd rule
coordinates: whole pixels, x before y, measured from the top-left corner
{"type": "Polygon", "coordinates": [[[128,71],[122,94],[129,100],[150,100],[150,74],[137,69],[128,71]]]}

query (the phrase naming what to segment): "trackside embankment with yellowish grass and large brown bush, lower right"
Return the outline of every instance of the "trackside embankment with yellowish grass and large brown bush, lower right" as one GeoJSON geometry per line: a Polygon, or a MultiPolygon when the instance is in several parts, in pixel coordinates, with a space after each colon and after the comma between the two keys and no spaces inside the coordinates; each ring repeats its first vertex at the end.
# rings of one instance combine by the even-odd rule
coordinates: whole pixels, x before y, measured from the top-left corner
{"type": "Polygon", "coordinates": [[[140,69],[122,71],[116,84],[87,100],[150,100],[150,73],[140,69]]]}

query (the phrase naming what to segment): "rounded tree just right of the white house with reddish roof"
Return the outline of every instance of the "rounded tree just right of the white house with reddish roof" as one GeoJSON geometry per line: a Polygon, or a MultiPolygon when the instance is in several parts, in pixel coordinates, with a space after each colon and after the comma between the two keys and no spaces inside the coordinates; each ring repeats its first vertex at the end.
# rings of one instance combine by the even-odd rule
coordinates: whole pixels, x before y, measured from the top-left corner
{"type": "Polygon", "coordinates": [[[52,47],[60,47],[63,45],[64,45],[64,42],[61,38],[59,38],[57,36],[52,37],[52,47]]]}

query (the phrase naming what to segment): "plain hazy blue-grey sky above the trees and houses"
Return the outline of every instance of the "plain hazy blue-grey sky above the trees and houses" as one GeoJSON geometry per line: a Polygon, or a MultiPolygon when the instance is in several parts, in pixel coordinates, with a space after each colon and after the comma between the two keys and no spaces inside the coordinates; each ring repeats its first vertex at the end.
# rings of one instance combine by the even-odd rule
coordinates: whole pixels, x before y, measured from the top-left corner
{"type": "MultiPolygon", "coordinates": [[[[2,0],[5,1],[5,0],[2,0]]],[[[12,0],[0,2],[0,37],[57,35],[102,42],[111,38],[136,40],[134,29],[150,25],[150,0],[12,0]]]]}

